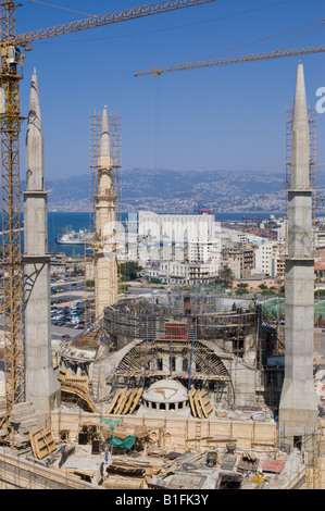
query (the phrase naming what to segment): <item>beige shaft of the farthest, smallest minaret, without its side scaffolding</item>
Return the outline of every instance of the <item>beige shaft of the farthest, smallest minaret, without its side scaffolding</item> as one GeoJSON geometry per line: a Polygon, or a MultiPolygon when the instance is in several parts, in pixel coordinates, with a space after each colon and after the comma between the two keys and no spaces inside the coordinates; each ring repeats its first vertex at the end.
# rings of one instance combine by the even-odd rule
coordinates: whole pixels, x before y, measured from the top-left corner
{"type": "Polygon", "coordinates": [[[96,202],[95,236],[95,302],[96,317],[117,299],[117,264],[115,256],[115,201],[113,163],[109,135],[107,107],[102,112],[98,157],[98,190],[96,202]]]}

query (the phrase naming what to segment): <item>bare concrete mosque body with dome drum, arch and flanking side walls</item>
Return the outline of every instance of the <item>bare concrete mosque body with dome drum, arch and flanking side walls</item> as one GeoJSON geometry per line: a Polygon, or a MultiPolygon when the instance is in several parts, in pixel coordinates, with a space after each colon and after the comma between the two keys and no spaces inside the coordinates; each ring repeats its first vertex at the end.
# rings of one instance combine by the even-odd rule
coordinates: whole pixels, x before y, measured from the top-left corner
{"type": "MultiPolygon", "coordinates": [[[[125,299],[107,308],[105,344],[89,372],[95,400],[111,399],[117,388],[149,388],[173,375],[187,389],[207,389],[217,408],[259,402],[257,311],[216,310],[220,296],[205,292],[125,299]]],[[[76,371],[68,352],[61,364],[76,371]]]]}

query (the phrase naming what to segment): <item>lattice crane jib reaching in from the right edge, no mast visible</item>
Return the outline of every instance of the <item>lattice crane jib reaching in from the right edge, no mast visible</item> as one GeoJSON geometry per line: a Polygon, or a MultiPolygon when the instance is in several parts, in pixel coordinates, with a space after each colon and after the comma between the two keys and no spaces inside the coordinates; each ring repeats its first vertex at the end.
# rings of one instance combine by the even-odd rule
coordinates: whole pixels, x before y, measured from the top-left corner
{"type": "Polygon", "coordinates": [[[237,64],[240,62],[254,62],[258,60],[280,59],[284,57],[307,55],[310,53],[321,53],[325,51],[325,46],[314,46],[307,48],[293,48],[289,50],[276,50],[267,53],[255,53],[242,57],[229,57],[226,59],[205,60],[198,62],[187,62],[184,64],[167,65],[165,67],[152,67],[147,71],[137,71],[135,76],[160,76],[163,73],[171,73],[173,71],[195,70],[199,67],[213,67],[215,65],[237,64]]]}

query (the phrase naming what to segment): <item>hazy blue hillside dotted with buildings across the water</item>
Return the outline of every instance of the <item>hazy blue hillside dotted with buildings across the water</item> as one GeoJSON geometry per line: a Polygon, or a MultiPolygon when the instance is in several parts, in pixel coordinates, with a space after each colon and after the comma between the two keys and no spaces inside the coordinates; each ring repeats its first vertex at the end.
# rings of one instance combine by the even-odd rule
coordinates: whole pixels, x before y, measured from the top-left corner
{"type": "MultiPolygon", "coordinates": [[[[325,183],[318,183],[317,192],[325,183]]],[[[89,211],[89,176],[48,184],[51,211],[89,211]]],[[[285,173],[132,169],[118,185],[118,211],[285,211],[285,173]]]]}

